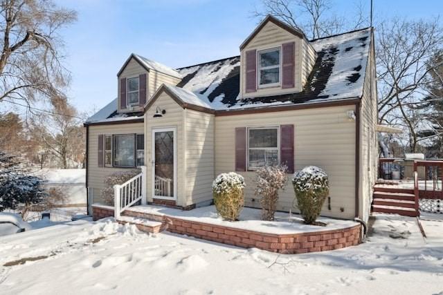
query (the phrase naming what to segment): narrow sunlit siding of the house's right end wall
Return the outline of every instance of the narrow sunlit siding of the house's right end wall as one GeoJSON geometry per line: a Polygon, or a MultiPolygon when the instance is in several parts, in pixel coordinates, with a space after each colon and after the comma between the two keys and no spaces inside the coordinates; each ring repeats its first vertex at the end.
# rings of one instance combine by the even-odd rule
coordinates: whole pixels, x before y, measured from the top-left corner
{"type": "MultiPolygon", "coordinates": [[[[372,43],[373,44],[373,43],[372,43]]],[[[366,68],[363,97],[361,99],[361,125],[360,125],[360,183],[359,183],[359,215],[367,221],[372,202],[372,188],[377,180],[378,145],[375,124],[377,124],[377,89],[375,86],[374,48],[366,68]],[[372,73],[371,73],[372,71],[372,73]],[[371,89],[372,83],[372,89],[371,89]],[[372,90],[372,93],[371,93],[372,90]]]]}

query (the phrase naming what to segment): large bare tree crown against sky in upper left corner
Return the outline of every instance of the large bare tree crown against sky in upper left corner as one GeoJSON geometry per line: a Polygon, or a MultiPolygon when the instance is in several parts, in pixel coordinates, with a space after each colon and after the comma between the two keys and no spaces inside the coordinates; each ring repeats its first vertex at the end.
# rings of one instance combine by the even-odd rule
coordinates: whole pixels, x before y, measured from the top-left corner
{"type": "Polygon", "coordinates": [[[52,0],[0,1],[0,102],[63,96],[69,72],[58,32],[75,19],[52,0]]]}

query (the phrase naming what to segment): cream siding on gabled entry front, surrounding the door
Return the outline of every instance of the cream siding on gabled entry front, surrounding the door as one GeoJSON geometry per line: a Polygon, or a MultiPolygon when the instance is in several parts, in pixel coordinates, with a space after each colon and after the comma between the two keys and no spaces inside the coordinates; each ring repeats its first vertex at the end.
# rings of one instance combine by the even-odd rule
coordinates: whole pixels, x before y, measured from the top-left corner
{"type": "Polygon", "coordinates": [[[183,164],[183,122],[185,113],[183,108],[177,104],[168,94],[161,93],[156,102],[145,112],[145,163],[147,164],[147,200],[152,201],[152,130],[159,128],[177,128],[177,204],[186,206],[186,190],[184,181],[183,164]],[[163,117],[152,117],[157,106],[166,113],[163,117]]]}

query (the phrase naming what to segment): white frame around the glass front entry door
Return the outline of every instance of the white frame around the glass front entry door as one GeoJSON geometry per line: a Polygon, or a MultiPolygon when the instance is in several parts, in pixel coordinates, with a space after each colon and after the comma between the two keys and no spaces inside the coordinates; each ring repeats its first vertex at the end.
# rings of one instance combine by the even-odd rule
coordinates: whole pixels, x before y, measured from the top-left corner
{"type": "Polygon", "coordinates": [[[153,199],[161,199],[161,200],[175,200],[177,201],[177,127],[168,127],[168,128],[152,128],[151,135],[151,151],[152,151],[152,162],[151,162],[151,193],[153,199]],[[165,197],[165,196],[156,196],[155,195],[155,133],[156,132],[167,132],[172,131],[173,140],[174,140],[174,196],[165,197]]]}

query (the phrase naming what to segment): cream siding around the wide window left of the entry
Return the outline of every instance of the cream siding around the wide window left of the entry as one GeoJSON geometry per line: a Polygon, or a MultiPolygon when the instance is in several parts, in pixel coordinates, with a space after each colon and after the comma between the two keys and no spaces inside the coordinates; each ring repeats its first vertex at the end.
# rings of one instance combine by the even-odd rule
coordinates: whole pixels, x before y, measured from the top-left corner
{"type": "Polygon", "coordinates": [[[91,203],[103,202],[100,191],[105,188],[105,177],[117,171],[127,171],[128,168],[98,166],[98,135],[113,135],[125,133],[144,133],[143,123],[110,124],[89,126],[88,140],[88,187],[91,203]]]}

